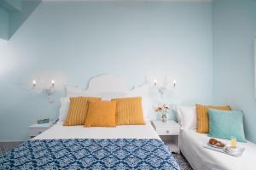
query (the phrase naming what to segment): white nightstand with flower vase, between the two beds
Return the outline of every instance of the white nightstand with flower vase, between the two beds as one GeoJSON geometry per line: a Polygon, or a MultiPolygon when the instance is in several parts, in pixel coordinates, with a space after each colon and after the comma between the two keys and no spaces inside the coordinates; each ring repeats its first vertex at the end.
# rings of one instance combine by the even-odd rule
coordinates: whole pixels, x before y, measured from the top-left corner
{"type": "Polygon", "coordinates": [[[171,120],[167,122],[156,120],[152,121],[152,125],[160,138],[169,145],[170,150],[179,153],[179,124],[171,120]]]}

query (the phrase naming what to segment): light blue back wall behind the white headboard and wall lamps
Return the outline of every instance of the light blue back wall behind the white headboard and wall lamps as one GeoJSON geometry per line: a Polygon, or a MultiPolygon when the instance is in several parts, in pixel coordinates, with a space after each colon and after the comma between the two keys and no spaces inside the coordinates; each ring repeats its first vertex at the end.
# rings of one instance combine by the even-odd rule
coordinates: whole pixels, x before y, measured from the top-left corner
{"type": "Polygon", "coordinates": [[[166,76],[184,105],[212,102],[212,3],[43,2],[0,44],[0,140],[27,139],[57,116],[64,85],[102,73],[129,86],[166,76]],[[37,77],[55,78],[55,104],[31,90],[37,77]]]}

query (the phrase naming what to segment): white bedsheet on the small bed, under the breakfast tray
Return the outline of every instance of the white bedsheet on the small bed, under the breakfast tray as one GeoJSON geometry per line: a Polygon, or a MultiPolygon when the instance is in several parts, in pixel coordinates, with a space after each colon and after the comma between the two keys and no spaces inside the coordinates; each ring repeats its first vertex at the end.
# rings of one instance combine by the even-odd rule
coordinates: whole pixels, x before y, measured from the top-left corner
{"type": "MultiPolygon", "coordinates": [[[[194,170],[255,170],[256,146],[251,142],[238,143],[245,147],[241,157],[229,156],[203,147],[209,137],[195,130],[182,130],[180,134],[180,149],[194,170]]],[[[225,144],[229,140],[219,139],[225,144]]]]}

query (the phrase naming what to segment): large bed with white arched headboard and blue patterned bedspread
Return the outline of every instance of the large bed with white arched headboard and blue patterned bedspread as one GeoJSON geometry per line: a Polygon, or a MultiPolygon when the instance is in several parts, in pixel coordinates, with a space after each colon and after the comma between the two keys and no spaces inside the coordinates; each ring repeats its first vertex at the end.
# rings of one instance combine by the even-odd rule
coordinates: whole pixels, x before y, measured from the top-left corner
{"type": "MultiPolygon", "coordinates": [[[[103,75],[90,80],[88,90],[83,93],[113,98],[124,96],[125,88],[120,79],[103,75]]],[[[133,90],[126,96],[133,94],[140,95],[133,90]]],[[[60,120],[44,133],[0,156],[0,169],[178,170],[172,154],[150,122],[146,122],[118,127],[65,127],[60,120]]]]}

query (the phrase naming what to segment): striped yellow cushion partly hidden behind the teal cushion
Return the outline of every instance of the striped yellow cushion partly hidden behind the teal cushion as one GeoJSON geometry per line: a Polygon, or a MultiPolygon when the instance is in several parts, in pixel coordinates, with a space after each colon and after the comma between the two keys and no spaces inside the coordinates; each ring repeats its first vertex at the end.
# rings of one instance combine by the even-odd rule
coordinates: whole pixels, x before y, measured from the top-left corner
{"type": "Polygon", "coordinates": [[[229,105],[214,106],[214,105],[198,105],[196,104],[196,115],[197,115],[197,132],[198,133],[209,133],[209,109],[217,109],[222,111],[231,111],[229,105]]]}

